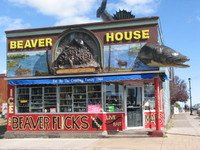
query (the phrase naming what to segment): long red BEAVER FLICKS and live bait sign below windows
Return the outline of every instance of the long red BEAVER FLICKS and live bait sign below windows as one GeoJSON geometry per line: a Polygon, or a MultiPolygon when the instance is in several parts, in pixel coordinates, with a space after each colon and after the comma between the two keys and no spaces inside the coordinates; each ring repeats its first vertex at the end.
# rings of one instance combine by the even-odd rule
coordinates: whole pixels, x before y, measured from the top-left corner
{"type": "Polygon", "coordinates": [[[9,115],[8,131],[122,130],[124,114],[9,115]]]}

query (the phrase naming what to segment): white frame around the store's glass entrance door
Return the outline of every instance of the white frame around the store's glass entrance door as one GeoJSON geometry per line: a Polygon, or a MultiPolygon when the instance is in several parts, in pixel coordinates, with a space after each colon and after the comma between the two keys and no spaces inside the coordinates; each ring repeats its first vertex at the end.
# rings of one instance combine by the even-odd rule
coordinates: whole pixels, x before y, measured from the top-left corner
{"type": "Polygon", "coordinates": [[[126,86],[125,91],[124,91],[124,95],[125,95],[125,101],[124,101],[124,108],[125,108],[125,128],[126,129],[141,129],[144,128],[145,126],[145,116],[144,116],[144,107],[143,107],[143,101],[144,101],[144,85],[129,85],[126,86]],[[128,117],[127,117],[127,93],[128,93],[128,89],[131,88],[135,88],[135,87],[141,87],[142,88],[142,126],[138,126],[138,127],[128,127],[128,117]]]}

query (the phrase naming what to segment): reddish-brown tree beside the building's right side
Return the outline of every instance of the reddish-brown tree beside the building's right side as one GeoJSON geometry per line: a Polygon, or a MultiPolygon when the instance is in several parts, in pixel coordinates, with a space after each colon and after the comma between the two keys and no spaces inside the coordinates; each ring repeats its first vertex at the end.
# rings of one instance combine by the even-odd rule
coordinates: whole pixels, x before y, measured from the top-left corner
{"type": "Polygon", "coordinates": [[[176,102],[186,102],[188,100],[187,84],[178,76],[170,81],[170,100],[171,104],[176,102]]]}

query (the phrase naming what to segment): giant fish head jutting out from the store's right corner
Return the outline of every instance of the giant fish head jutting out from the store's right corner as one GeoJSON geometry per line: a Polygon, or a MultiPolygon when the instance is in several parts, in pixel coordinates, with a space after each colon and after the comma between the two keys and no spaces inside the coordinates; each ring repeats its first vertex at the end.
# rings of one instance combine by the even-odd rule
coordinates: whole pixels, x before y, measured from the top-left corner
{"type": "Polygon", "coordinates": [[[153,67],[190,67],[184,64],[190,60],[188,57],[165,45],[145,44],[137,57],[142,63],[153,67]]]}

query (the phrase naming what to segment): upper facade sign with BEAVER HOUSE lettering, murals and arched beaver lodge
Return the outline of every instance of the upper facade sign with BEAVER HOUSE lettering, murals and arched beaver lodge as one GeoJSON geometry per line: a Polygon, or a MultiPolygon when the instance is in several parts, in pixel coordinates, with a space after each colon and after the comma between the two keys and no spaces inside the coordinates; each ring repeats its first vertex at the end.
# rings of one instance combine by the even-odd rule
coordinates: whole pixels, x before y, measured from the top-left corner
{"type": "Polygon", "coordinates": [[[151,27],[101,34],[75,28],[57,37],[8,39],[7,77],[158,70],[137,58],[154,32],[151,27]]]}

